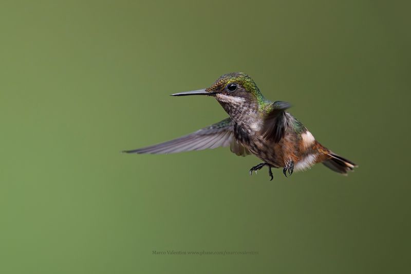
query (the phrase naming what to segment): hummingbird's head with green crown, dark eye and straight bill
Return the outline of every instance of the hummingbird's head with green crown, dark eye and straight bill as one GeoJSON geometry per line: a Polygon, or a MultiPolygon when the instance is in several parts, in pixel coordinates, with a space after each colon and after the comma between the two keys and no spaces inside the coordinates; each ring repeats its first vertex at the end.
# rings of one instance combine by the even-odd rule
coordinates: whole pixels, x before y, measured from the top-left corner
{"type": "Polygon", "coordinates": [[[208,95],[214,96],[220,103],[262,103],[265,101],[257,85],[244,72],[232,72],[222,75],[208,88],[172,94],[172,96],[208,95]]]}

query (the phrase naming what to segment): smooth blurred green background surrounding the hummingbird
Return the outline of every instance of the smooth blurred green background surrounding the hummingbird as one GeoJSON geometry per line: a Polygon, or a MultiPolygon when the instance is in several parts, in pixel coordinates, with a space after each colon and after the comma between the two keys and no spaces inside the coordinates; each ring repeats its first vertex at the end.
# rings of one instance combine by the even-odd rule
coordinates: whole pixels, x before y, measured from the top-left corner
{"type": "Polygon", "coordinates": [[[0,272],[409,273],[409,10],[2,1],[0,272]],[[169,94],[231,71],[360,168],[270,182],[228,149],[120,153],[225,118],[169,94]]]}

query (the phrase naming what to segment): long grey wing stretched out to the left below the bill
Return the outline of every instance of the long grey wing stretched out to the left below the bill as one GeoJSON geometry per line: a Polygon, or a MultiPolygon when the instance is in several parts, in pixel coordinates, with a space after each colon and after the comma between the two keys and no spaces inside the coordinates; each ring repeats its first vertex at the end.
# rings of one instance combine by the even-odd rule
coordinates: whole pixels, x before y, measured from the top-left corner
{"type": "Polygon", "coordinates": [[[218,147],[228,147],[229,145],[231,151],[237,155],[246,156],[250,154],[244,146],[235,140],[233,124],[231,123],[231,119],[227,118],[171,141],[124,152],[138,154],[167,154],[192,150],[215,149],[218,147]]]}

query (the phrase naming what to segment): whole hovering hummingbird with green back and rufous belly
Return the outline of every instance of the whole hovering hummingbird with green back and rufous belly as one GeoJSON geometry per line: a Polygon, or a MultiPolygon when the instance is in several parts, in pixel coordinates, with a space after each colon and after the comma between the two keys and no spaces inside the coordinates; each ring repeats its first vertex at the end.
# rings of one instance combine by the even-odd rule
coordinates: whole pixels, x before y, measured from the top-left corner
{"type": "Polygon", "coordinates": [[[263,162],[250,169],[257,173],[268,167],[282,168],[284,175],[305,170],[322,162],[331,170],[347,174],[357,165],[317,142],[306,127],[292,116],[284,101],[271,102],[264,98],[250,76],[232,72],[217,79],[205,89],[172,94],[171,96],[206,95],[214,97],[230,116],[183,137],[124,151],[138,154],[167,154],[192,150],[228,147],[239,156],[254,154],[263,162]]]}

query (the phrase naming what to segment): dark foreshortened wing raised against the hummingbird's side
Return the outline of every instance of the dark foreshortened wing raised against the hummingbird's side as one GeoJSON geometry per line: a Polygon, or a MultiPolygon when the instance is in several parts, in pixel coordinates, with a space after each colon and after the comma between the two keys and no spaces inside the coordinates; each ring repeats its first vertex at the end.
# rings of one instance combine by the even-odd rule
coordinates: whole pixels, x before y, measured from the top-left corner
{"type": "Polygon", "coordinates": [[[275,101],[271,105],[271,109],[264,119],[263,129],[261,133],[267,140],[279,142],[287,129],[287,115],[285,113],[287,108],[290,108],[290,103],[283,101],[275,101]]]}

